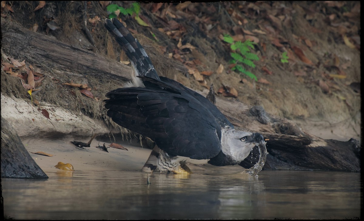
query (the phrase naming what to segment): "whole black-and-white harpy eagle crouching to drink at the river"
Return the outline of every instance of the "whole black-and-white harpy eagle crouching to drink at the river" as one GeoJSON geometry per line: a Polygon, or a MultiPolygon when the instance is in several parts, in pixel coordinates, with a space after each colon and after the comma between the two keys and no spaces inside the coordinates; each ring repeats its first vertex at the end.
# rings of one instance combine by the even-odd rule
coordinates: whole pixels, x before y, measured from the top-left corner
{"type": "Polygon", "coordinates": [[[144,48],[120,21],[106,19],[104,25],[134,68],[131,83],[106,94],[105,108],[118,125],[156,143],[143,171],[189,172],[186,158],[247,169],[258,162],[264,165],[266,147],[261,134],[235,130],[204,96],[158,76],[144,48]]]}

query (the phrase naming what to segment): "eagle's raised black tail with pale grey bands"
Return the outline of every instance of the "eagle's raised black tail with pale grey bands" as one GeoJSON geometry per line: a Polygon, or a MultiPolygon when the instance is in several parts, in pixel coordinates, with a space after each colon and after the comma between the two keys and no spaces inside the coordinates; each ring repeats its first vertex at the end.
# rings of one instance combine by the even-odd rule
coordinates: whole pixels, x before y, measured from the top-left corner
{"type": "Polygon", "coordinates": [[[142,45],[118,19],[105,19],[104,25],[125,51],[137,76],[161,80],[142,45]]]}

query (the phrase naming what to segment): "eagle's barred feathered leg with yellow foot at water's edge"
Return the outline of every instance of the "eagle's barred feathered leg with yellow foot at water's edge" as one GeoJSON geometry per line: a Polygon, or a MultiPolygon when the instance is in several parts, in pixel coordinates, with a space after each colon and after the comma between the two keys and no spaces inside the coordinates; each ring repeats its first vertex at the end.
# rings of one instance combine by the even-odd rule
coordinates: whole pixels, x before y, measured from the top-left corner
{"type": "Polygon", "coordinates": [[[161,173],[179,173],[190,174],[192,171],[186,165],[185,161],[178,159],[178,156],[170,156],[165,151],[155,146],[149,155],[147,162],[144,164],[142,171],[153,173],[159,171],[161,173]]]}

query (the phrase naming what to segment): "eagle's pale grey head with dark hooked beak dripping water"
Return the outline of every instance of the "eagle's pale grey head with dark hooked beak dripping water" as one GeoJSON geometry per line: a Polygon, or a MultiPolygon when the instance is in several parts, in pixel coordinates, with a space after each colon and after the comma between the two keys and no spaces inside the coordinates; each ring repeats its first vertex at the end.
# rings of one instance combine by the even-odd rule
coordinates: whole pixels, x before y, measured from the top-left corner
{"type": "Polygon", "coordinates": [[[261,142],[264,142],[264,138],[258,133],[238,131],[229,126],[221,130],[222,153],[232,158],[235,163],[248,157],[253,147],[261,142]]]}

